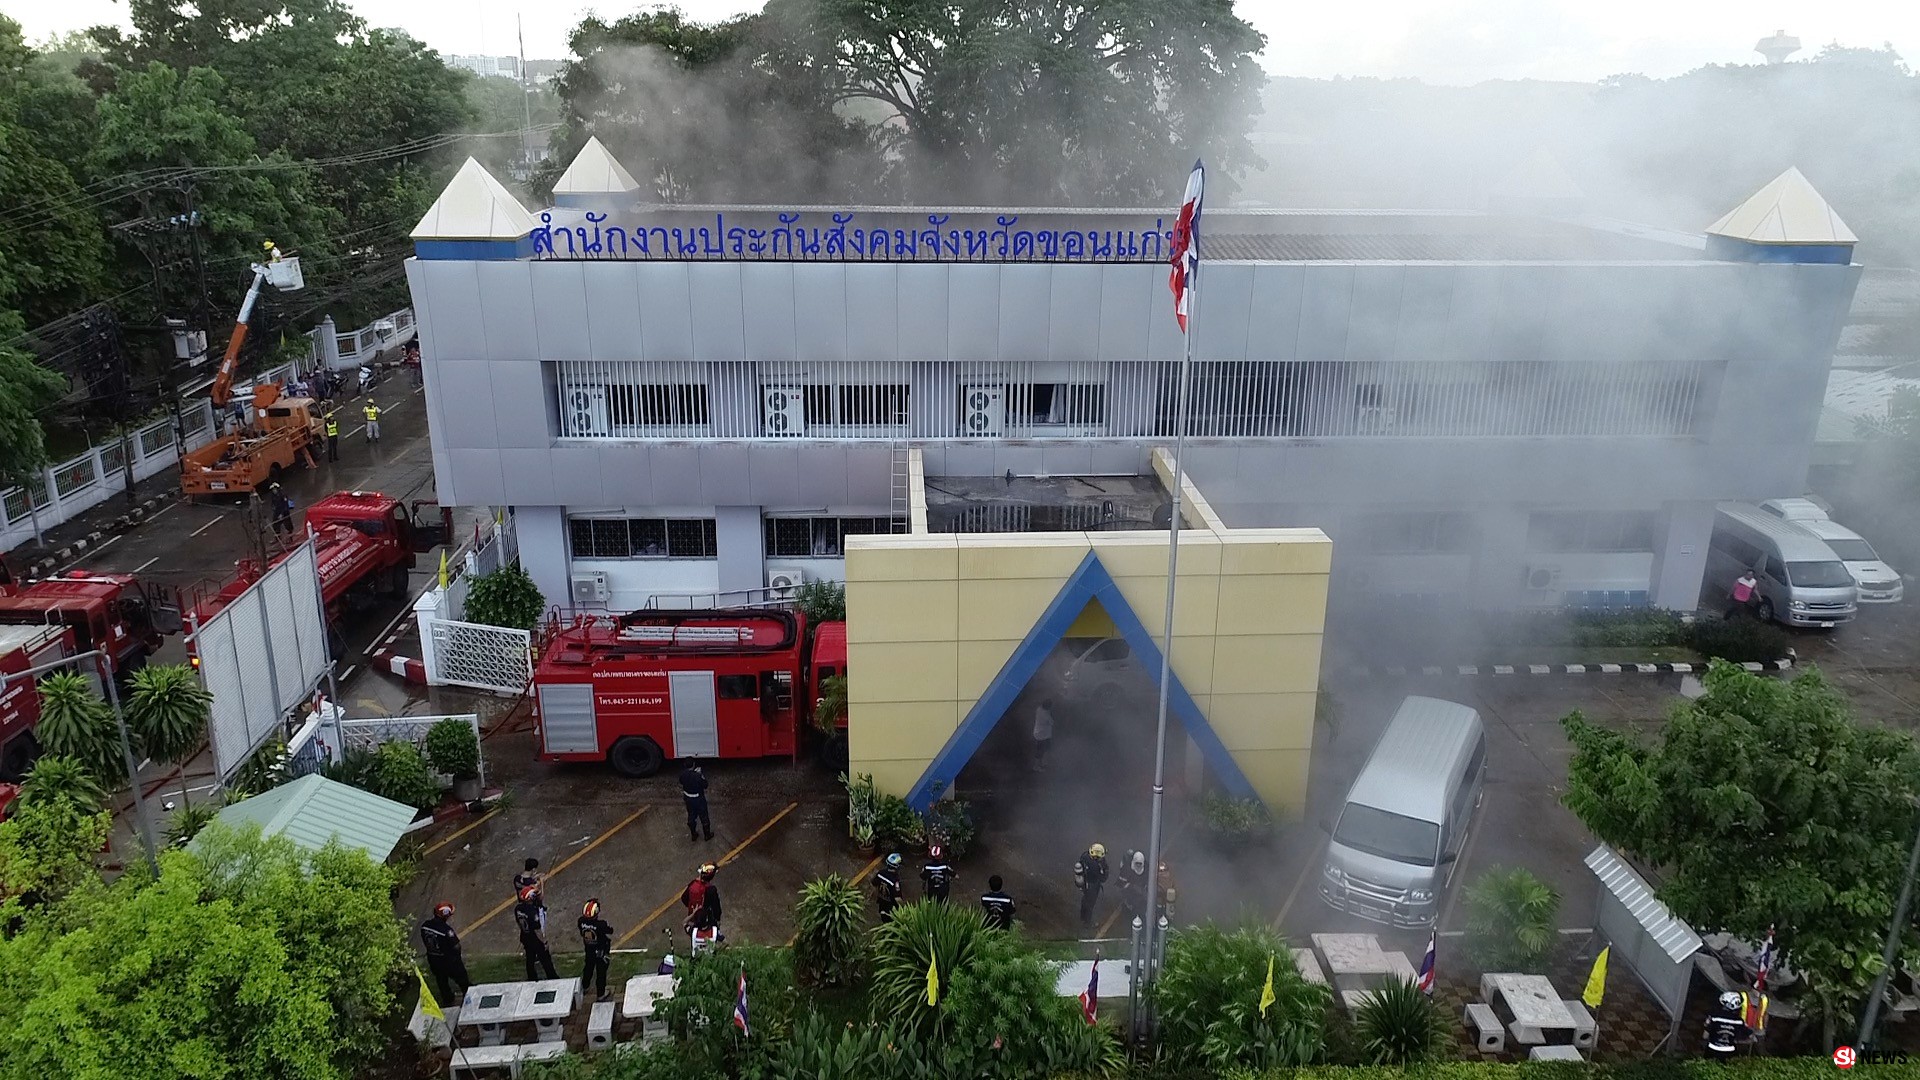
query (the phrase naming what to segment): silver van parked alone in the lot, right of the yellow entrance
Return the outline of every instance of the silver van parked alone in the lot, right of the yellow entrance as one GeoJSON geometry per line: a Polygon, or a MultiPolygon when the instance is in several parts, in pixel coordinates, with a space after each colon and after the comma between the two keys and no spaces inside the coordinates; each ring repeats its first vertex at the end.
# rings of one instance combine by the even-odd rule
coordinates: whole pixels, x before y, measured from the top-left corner
{"type": "Polygon", "coordinates": [[[1359,771],[1327,844],[1321,899],[1392,926],[1432,926],[1486,780],[1480,713],[1407,698],[1359,771]]]}

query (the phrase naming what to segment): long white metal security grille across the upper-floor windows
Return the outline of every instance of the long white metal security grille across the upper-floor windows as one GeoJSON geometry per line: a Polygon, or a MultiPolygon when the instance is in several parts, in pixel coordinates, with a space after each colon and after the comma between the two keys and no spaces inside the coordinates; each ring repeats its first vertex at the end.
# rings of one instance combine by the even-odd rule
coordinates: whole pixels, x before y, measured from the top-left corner
{"type": "MultiPolygon", "coordinates": [[[[553,361],[561,438],[1171,438],[1175,361],[553,361]]],[[[1697,434],[1720,365],[1206,361],[1200,438],[1697,434]]]]}

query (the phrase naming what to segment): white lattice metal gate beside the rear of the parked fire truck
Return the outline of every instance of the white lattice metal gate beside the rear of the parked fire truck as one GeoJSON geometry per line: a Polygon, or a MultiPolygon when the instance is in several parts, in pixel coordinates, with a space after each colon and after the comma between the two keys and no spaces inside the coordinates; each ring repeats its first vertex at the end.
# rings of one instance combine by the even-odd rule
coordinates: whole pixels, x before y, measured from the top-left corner
{"type": "Polygon", "coordinates": [[[513,517],[501,513],[465,553],[447,586],[434,586],[413,603],[428,686],[526,692],[534,678],[534,636],[526,630],[465,621],[472,578],[518,559],[513,517]]]}

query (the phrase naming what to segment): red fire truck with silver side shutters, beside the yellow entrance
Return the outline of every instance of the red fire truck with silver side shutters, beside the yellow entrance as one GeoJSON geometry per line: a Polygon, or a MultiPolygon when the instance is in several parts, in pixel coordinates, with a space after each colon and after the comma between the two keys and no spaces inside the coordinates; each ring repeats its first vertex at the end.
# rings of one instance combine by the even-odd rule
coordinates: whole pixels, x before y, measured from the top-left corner
{"type": "Polygon", "coordinates": [[[540,759],[607,761],[622,776],[672,757],[795,757],[820,682],[847,673],[845,623],[808,626],[787,607],[578,617],[545,636],[540,759]]]}

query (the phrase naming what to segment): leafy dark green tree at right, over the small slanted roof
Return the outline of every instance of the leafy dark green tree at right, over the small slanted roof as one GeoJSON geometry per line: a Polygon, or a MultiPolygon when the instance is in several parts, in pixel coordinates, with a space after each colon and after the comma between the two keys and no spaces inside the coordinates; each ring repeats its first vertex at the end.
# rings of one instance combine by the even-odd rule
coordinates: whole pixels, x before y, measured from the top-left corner
{"type": "MultiPolygon", "coordinates": [[[[1920,798],[1920,748],[1857,723],[1818,671],[1791,682],[1715,661],[1653,744],[1580,713],[1565,803],[1657,867],[1659,897],[1703,934],[1778,928],[1832,1042],[1880,972],[1920,798]]],[[[1901,955],[1920,959],[1903,928],[1901,955]]]]}

